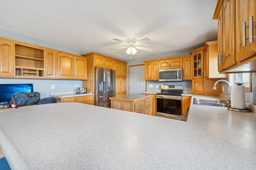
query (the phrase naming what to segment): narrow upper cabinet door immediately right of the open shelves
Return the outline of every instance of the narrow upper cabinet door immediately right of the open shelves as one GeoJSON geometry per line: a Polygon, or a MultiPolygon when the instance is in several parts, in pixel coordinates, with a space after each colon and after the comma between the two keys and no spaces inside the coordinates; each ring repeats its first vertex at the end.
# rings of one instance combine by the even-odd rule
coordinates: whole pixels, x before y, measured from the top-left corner
{"type": "Polygon", "coordinates": [[[45,50],[45,77],[55,78],[56,50],[45,50]]]}

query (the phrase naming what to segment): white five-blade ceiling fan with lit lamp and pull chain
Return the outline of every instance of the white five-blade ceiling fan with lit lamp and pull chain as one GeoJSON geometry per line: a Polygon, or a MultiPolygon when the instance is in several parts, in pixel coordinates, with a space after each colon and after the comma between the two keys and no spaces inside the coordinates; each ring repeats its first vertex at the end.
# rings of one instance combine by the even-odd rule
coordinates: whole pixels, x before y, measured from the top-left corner
{"type": "MultiPolygon", "coordinates": [[[[145,51],[152,51],[153,50],[152,48],[138,46],[142,43],[150,42],[151,40],[149,38],[143,38],[140,41],[137,41],[135,38],[128,38],[128,39],[126,39],[126,42],[123,42],[123,41],[118,40],[118,39],[113,39],[113,40],[126,45],[126,47],[119,47],[119,48],[115,48],[115,49],[127,48],[126,53],[128,53],[131,56],[131,59],[132,59],[132,54],[136,54],[137,49],[141,49],[141,50],[145,50],[145,51]]],[[[114,49],[110,49],[110,50],[114,50],[114,49]]]]}

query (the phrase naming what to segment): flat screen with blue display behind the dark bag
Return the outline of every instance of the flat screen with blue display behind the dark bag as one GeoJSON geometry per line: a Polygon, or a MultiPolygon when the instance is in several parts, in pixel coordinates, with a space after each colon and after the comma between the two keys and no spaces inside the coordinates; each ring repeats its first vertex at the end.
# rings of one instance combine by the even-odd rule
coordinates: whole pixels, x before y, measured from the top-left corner
{"type": "Polygon", "coordinates": [[[0,84],[0,103],[11,101],[15,92],[33,92],[33,84],[0,84]]]}

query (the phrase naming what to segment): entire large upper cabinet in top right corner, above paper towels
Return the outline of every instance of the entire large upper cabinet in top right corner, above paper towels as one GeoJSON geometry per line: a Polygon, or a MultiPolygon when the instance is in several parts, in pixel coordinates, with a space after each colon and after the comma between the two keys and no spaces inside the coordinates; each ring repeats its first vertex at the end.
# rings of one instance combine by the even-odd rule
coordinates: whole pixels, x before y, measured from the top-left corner
{"type": "Polygon", "coordinates": [[[256,71],[256,1],[218,0],[213,19],[218,20],[218,71],[256,71]]]}

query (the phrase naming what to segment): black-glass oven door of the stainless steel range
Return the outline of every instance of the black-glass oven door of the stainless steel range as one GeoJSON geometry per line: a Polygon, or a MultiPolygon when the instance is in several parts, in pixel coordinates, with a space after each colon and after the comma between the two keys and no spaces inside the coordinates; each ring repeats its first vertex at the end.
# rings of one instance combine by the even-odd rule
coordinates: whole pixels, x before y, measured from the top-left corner
{"type": "Polygon", "coordinates": [[[181,116],[181,96],[156,95],[156,112],[181,116]]]}

